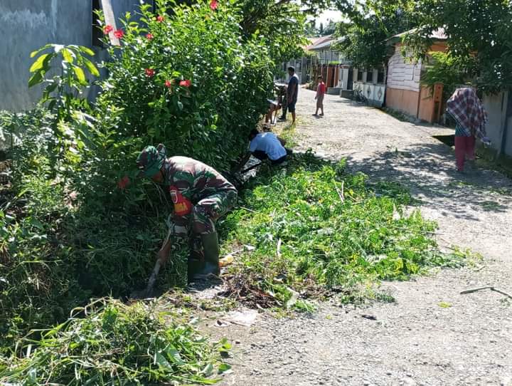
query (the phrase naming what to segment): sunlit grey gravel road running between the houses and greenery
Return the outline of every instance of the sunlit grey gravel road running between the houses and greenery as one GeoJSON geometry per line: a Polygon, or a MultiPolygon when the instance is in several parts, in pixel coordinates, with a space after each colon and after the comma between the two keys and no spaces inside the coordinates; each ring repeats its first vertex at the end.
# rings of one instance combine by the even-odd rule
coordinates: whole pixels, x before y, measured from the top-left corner
{"type": "Polygon", "coordinates": [[[211,327],[235,342],[234,371],[222,385],[512,385],[512,301],[492,291],[459,294],[485,285],[512,293],[511,180],[488,169],[455,172],[452,149],[433,137],[452,130],[334,95],[325,112],[311,116],[314,93],[301,90],[299,149],[406,184],[438,221],[439,244],[471,248],[484,264],[383,283],[395,303],[334,301],[309,316],[264,313],[251,327],[211,327]]]}

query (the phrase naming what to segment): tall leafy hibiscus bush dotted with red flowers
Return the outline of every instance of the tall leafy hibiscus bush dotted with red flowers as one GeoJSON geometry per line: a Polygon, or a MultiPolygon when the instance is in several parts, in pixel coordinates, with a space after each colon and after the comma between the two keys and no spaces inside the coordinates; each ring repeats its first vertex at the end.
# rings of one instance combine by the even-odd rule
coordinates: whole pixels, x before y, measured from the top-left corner
{"type": "Polygon", "coordinates": [[[154,13],[142,5],[137,20],[127,14],[116,31],[104,25],[112,59],[97,105],[123,109],[119,135],[228,169],[272,89],[264,41],[244,38],[241,18],[231,3],[159,0],[154,13]]]}

